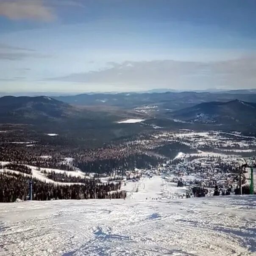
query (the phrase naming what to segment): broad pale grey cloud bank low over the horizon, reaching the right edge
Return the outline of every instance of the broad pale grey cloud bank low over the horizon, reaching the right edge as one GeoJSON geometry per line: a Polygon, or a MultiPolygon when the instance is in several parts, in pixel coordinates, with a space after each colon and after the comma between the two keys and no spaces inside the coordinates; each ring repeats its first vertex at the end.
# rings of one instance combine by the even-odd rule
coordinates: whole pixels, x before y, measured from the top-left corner
{"type": "Polygon", "coordinates": [[[228,61],[125,61],[108,63],[111,67],[70,74],[49,80],[106,86],[146,86],[156,88],[241,88],[256,86],[256,57],[228,61]]]}

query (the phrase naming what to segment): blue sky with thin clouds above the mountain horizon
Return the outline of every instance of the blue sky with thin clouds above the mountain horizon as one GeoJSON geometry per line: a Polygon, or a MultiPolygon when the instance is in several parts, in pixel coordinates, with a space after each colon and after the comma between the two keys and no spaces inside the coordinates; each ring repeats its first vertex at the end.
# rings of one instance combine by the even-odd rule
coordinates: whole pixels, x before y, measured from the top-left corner
{"type": "Polygon", "coordinates": [[[0,0],[0,92],[256,88],[256,0],[0,0]]]}

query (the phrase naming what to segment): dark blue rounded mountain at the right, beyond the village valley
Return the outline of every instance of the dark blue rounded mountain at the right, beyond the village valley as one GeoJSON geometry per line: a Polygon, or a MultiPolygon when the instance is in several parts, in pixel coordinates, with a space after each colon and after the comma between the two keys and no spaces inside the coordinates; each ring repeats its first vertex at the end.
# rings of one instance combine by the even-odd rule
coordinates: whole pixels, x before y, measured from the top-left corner
{"type": "Polygon", "coordinates": [[[205,124],[256,124],[256,103],[242,100],[200,103],[169,113],[176,120],[205,124]]]}

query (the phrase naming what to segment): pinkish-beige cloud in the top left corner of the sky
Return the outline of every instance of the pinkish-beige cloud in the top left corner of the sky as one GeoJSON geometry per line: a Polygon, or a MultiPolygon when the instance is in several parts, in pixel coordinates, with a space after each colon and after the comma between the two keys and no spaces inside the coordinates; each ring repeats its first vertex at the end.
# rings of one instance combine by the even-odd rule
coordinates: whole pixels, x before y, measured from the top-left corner
{"type": "Polygon", "coordinates": [[[0,0],[0,16],[50,22],[57,19],[55,9],[59,6],[84,7],[77,0],[0,0]]]}

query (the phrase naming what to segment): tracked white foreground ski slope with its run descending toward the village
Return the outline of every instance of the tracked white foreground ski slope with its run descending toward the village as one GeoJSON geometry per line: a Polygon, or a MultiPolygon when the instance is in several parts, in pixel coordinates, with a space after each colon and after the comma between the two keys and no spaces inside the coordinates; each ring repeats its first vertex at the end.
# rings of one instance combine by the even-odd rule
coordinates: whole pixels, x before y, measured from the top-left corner
{"type": "Polygon", "coordinates": [[[256,255],[256,196],[170,200],[182,188],[160,176],[124,188],[126,200],[1,203],[0,256],[256,255]]]}

